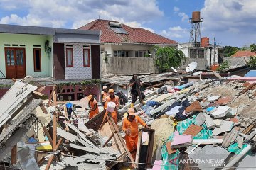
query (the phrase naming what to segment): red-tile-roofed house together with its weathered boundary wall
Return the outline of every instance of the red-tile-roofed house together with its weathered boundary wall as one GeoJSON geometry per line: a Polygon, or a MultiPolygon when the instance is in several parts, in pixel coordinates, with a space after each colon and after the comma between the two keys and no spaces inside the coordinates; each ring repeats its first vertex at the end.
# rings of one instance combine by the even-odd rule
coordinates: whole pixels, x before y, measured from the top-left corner
{"type": "Polygon", "coordinates": [[[103,74],[156,72],[154,45],[178,45],[174,40],[118,21],[97,19],[78,29],[102,31],[100,51],[103,74]]]}

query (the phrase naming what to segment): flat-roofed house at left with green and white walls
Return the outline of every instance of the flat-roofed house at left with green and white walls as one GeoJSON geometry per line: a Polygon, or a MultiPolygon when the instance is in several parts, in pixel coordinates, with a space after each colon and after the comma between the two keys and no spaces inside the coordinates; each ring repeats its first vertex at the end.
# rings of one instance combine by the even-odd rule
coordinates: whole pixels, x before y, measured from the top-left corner
{"type": "Polygon", "coordinates": [[[0,77],[100,79],[100,31],[0,25],[0,77]]]}

